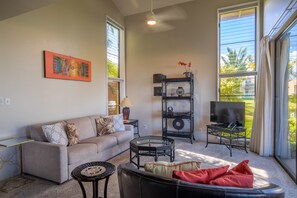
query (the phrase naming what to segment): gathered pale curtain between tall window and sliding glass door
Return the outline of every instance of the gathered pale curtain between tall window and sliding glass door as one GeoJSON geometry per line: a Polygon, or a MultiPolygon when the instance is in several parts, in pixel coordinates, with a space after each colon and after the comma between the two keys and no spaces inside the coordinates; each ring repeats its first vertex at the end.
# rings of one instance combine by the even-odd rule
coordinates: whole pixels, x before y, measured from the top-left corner
{"type": "Polygon", "coordinates": [[[273,95],[269,37],[260,42],[255,111],[250,140],[250,151],[261,156],[273,153],[273,95]]]}

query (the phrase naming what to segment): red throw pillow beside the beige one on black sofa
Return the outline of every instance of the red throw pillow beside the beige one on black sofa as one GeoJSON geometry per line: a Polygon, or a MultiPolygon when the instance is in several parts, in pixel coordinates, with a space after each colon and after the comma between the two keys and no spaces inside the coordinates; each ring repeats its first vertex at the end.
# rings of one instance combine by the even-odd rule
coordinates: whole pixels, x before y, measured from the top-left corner
{"type": "Polygon", "coordinates": [[[172,177],[192,183],[208,184],[209,181],[224,175],[228,168],[229,165],[220,168],[201,169],[190,172],[174,170],[172,172],[172,177]]]}

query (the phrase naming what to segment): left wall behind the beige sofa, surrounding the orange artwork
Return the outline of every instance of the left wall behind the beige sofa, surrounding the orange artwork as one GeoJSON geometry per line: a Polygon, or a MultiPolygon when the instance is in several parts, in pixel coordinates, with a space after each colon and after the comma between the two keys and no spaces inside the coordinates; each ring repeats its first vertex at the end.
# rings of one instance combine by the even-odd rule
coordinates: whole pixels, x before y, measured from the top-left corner
{"type": "MultiPolygon", "coordinates": [[[[124,25],[119,13],[110,0],[60,0],[0,21],[0,97],[11,98],[0,106],[0,139],[25,136],[30,124],[106,113],[105,22],[109,15],[124,25]],[[43,50],[91,61],[92,82],[44,78],[43,50]]],[[[15,150],[0,150],[0,180],[18,172],[15,150]]]]}

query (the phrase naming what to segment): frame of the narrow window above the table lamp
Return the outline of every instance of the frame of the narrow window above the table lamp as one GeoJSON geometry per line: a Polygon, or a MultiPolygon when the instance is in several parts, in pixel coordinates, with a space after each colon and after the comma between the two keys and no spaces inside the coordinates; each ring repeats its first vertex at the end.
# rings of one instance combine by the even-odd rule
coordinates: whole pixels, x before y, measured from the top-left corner
{"type": "MultiPolygon", "coordinates": [[[[106,114],[108,114],[108,83],[110,81],[119,83],[119,102],[125,97],[126,95],[126,60],[125,60],[125,28],[120,25],[118,22],[113,20],[111,17],[106,16],[105,21],[105,34],[106,34],[106,42],[105,42],[105,50],[106,50],[106,61],[105,61],[105,76],[106,76],[106,114]],[[108,43],[108,35],[107,35],[107,25],[110,24],[116,27],[119,30],[119,77],[109,77],[108,76],[108,65],[107,65],[107,43],[108,43]]],[[[121,112],[120,104],[119,112],[121,112]]]]}

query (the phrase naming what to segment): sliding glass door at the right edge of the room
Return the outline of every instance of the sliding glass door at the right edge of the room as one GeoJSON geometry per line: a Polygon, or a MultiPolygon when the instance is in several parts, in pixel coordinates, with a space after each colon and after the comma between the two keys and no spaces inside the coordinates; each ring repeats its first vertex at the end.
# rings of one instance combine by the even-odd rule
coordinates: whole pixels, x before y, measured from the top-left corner
{"type": "Polygon", "coordinates": [[[275,155],[296,181],[297,22],[276,40],[275,155]]]}

